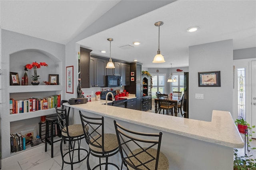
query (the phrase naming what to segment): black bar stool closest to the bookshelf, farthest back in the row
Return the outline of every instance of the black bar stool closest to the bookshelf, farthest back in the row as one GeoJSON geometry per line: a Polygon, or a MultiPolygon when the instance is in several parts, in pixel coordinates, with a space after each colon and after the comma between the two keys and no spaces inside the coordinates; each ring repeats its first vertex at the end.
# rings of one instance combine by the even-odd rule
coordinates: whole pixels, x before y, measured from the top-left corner
{"type": "MultiPolygon", "coordinates": [[[[67,102],[68,102],[67,100],[62,100],[61,101],[61,109],[64,109],[63,103],[67,103],[67,102]]],[[[69,113],[69,111],[70,111],[70,108],[68,109],[68,113],[69,113]]],[[[46,117],[45,121],[46,121],[46,128],[45,128],[45,147],[44,147],[44,151],[45,152],[47,151],[47,144],[50,144],[51,145],[51,157],[53,158],[53,144],[55,142],[58,142],[58,141],[61,140],[61,138],[60,138],[58,140],[53,141],[53,137],[54,137],[53,131],[55,129],[54,125],[55,125],[55,123],[58,122],[58,118],[57,118],[57,116],[50,116],[50,117],[46,117]],[[50,140],[48,139],[49,138],[49,125],[51,126],[50,140]]],[[[61,137],[61,136],[59,136],[59,137],[61,137]]]]}

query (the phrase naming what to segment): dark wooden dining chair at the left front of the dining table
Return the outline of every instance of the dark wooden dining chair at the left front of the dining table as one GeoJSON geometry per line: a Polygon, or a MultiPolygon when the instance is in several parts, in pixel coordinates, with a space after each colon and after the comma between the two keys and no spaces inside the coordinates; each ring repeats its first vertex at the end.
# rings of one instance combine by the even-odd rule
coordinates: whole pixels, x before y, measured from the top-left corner
{"type": "Polygon", "coordinates": [[[164,110],[166,110],[166,114],[169,115],[169,111],[171,110],[172,115],[173,115],[173,108],[175,105],[171,105],[168,101],[168,95],[167,94],[158,94],[158,106],[159,106],[159,113],[163,109],[163,114],[164,110]]]}

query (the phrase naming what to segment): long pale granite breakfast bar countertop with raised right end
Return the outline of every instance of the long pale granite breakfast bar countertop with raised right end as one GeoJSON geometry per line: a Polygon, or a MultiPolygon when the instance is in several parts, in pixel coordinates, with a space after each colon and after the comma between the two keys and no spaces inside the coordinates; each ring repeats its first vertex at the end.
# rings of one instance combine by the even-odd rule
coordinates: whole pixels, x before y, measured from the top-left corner
{"type": "MultiPolygon", "coordinates": [[[[129,98],[130,97],[133,96],[129,95],[129,98]]],[[[244,147],[242,137],[234,124],[232,116],[227,111],[212,111],[212,121],[206,122],[114,107],[104,105],[103,103],[106,103],[106,101],[91,101],[79,105],[69,105],[68,103],[64,103],[64,105],[74,109],[134,123],[136,125],[142,125],[205,142],[228,146],[230,148],[244,147]]]]}

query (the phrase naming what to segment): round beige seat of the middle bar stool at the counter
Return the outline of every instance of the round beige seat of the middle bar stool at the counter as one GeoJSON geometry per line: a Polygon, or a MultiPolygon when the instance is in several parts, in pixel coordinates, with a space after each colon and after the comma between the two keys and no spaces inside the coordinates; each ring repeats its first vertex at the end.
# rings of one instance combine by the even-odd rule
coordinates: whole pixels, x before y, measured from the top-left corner
{"type": "MultiPolygon", "coordinates": [[[[95,145],[98,145],[98,146],[102,145],[102,137],[100,137],[100,135],[96,135],[90,140],[95,145]]],[[[94,150],[95,152],[102,152],[102,148],[92,146],[91,144],[89,144],[89,147],[91,150],[94,150]]],[[[117,141],[116,134],[112,134],[112,133],[104,134],[104,151],[111,152],[113,150],[116,150],[116,148],[118,148],[118,141],[117,141]]]]}

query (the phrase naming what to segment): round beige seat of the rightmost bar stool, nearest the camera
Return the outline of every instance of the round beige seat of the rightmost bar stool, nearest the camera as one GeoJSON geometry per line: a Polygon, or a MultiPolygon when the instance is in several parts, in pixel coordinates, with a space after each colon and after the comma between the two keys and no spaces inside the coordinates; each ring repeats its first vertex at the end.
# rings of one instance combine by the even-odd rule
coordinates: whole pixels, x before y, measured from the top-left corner
{"type": "MultiPolygon", "coordinates": [[[[146,149],[146,148],[144,148],[146,149]]],[[[132,151],[133,154],[137,154],[139,152],[141,152],[142,149],[141,148],[138,148],[138,149],[135,149],[132,151]]],[[[149,148],[147,150],[148,153],[150,153],[152,156],[156,157],[156,154],[157,154],[157,150],[154,149],[154,148],[149,148]]],[[[128,156],[132,156],[132,153],[130,153],[128,156]]],[[[135,157],[140,160],[142,163],[144,162],[147,162],[149,160],[152,159],[152,156],[150,156],[149,154],[147,154],[146,152],[142,152],[138,155],[136,155],[135,157]]],[[[135,164],[135,166],[138,166],[140,165],[141,163],[134,157],[131,157],[130,159],[132,160],[133,164],[135,164]]],[[[128,160],[128,159],[127,159],[128,160]]],[[[130,162],[128,160],[128,162],[130,162]]],[[[132,163],[131,163],[132,164],[132,163]]],[[[149,168],[149,169],[154,169],[155,168],[155,165],[156,164],[156,160],[152,160],[148,163],[146,163],[145,165],[149,168]]],[[[127,167],[129,169],[133,169],[132,167],[130,167],[128,164],[127,164],[127,167]]],[[[142,169],[142,170],[147,170],[143,165],[142,166],[138,166],[138,168],[142,169]]],[[[169,161],[167,159],[167,157],[162,153],[160,152],[159,154],[159,159],[158,159],[158,169],[159,170],[168,170],[169,169],[169,161]]]]}

